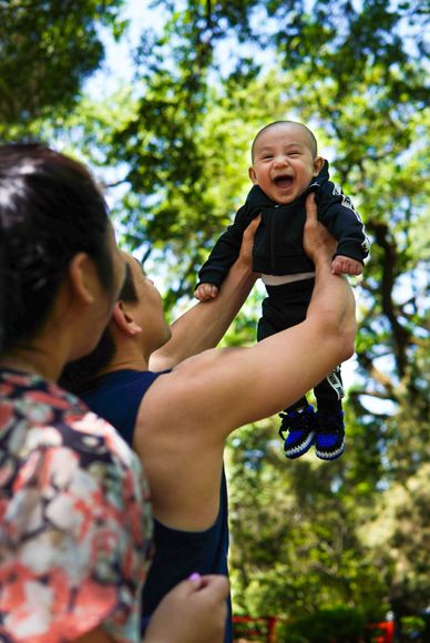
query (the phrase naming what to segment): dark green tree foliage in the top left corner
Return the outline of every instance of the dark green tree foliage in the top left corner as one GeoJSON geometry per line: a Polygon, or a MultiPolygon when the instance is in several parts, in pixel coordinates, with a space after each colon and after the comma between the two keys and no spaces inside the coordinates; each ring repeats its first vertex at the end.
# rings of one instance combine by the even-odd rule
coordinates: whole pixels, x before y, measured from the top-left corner
{"type": "Polygon", "coordinates": [[[116,37],[123,31],[122,3],[0,1],[0,137],[10,140],[35,119],[73,109],[83,80],[104,55],[100,25],[116,37]]]}

